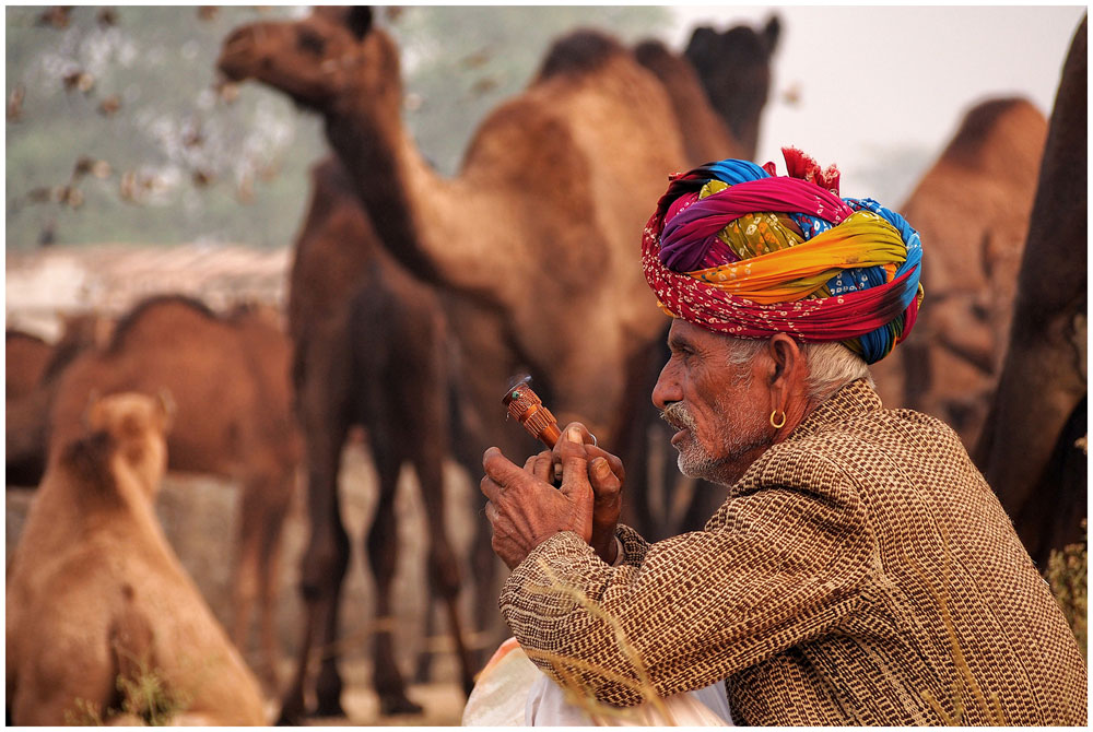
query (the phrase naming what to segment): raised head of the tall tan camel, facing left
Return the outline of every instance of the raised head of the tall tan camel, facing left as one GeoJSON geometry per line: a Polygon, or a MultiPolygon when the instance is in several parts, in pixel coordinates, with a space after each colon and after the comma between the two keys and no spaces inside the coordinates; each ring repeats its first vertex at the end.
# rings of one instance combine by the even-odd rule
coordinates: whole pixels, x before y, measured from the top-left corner
{"type": "Polygon", "coordinates": [[[231,33],[221,73],[254,79],[302,107],[326,113],[339,102],[401,101],[398,49],[373,27],[368,8],[316,8],[299,21],[251,23],[231,33]]]}

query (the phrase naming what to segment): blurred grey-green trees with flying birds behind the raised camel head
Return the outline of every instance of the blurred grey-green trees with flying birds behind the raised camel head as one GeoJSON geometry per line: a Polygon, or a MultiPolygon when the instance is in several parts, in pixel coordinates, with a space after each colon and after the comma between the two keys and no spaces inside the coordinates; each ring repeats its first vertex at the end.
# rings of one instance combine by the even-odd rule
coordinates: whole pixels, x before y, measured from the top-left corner
{"type": "MultiPolygon", "coordinates": [[[[257,84],[218,87],[227,33],[274,7],[9,7],[7,246],[289,245],[320,120],[257,84]]],[[[378,13],[403,49],[407,121],[454,173],[483,116],[522,87],[557,35],[668,33],[663,8],[411,7],[378,13]]]]}

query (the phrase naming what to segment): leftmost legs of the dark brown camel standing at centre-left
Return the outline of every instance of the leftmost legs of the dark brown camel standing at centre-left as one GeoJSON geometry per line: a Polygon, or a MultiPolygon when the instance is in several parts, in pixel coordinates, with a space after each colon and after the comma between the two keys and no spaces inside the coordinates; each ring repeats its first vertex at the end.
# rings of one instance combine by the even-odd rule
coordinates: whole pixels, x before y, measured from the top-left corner
{"type": "MultiPolygon", "coordinates": [[[[292,684],[281,700],[278,724],[298,725],[304,716],[304,687],[308,662],[319,624],[322,642],[337,638],[338,599],[349,566],[349,538],[338,508],[338,469],[346,426],[330,428],[316,421],[305,426],[307,449],[307,508],[310,538],[301,565],[301,594],[304,599],[304,640],[296,660],[292,684]],[[308,428],[312,427],[312,428],[308,428]]],[[[326,650],[326,649],[320,649],[326,650]]],[[[341,712],[341,678],[332,658],[324,658],[316,688],[319,711],[341,712]]]]}

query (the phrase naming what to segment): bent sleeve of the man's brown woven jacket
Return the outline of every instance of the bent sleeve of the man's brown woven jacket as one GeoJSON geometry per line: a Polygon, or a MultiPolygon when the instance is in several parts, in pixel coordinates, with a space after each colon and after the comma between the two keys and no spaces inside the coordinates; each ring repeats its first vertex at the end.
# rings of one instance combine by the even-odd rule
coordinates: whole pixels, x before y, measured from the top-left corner
{"type": "Polygon", "coordinates": [[[632,706],[727,678],[834,627],[860,602],[875,543],[850,477],[812,456],[800,480],[760,481],[704,531],[646,544],[621,527],[610,567],[577,534],[540,544],[501,607],[564,687],[632,706]]]}

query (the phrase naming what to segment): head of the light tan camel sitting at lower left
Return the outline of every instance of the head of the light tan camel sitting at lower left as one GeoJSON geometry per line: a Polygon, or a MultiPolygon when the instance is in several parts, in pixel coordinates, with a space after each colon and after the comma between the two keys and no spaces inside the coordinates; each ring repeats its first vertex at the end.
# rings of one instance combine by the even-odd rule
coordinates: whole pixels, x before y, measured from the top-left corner
{"type": "Polygon", "coordinates": [[[167,470],[166,435],[174,411],[166,392],[158,397],[125,392],[92,397],[84,422],[92,436],[105,436],[111,462],[120,460],[149,496],[154,496],[167,470]]]}

